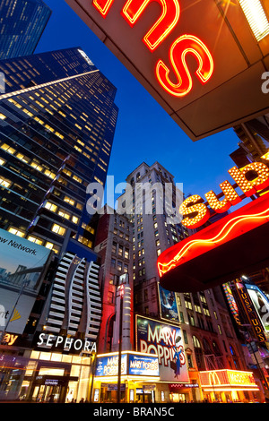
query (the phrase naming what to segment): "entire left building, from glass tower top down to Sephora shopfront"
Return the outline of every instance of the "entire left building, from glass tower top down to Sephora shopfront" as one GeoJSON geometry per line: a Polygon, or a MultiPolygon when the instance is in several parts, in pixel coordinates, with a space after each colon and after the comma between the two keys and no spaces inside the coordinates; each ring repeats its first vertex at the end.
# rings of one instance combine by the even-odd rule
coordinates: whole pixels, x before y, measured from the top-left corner
{"type": "Polygon", "coordinates": [[[0,66],[6,81],[0,96],[0,226],[18,245],[21,237],[29,250],[39,245],[51,251],[34,304],[23,285],[17,291],[30,315],[20,332],[10,323],[5,327],[5,379],[13,376],[11,354],[20,354],[21,368],[12,387],[1,382],[0,399],[89,400],[102,316],[89,200],[92,184],[106,182],[117,90],[80,47],[2,60],[0,66]],[[15,348],[6,342],[11,335],[15,348]]]}

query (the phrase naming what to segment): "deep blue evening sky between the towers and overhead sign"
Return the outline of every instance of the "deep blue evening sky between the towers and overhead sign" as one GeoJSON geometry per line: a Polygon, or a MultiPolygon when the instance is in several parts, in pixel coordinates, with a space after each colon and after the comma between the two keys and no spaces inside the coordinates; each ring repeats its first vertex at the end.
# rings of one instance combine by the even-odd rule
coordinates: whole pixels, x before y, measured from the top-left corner
{"type": "Polygon", "coordinates": [[[44,1],[52,15],[36,53],[82,47],[117,87],[119,115],[108,168],[115,185],[125,182],[143,161],[152,165],[157,160],[175,176],[176,183],[183,183],[184,193],[203,197],[212,189],[220,193],[218,185],[230,179],[227,171],[234,165],[229,155],[238,148],[239,138],[233,130],[192,142],[65,0],[44,1]]]}

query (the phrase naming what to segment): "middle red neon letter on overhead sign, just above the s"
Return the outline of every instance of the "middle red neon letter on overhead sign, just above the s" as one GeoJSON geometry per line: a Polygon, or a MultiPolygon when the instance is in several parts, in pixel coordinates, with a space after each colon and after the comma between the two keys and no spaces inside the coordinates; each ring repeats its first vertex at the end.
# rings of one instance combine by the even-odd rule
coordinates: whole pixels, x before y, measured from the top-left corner
{"type": "Polygon", "coordinates": [[[180,14],[178,0],[128,0],[122,10],[122,15],[129,25],[134,26],[134,23],[151,2],[158,2],[162,8],[161,17],[143,38],[145,45],[153,51],[178,23],[180,14]]]}

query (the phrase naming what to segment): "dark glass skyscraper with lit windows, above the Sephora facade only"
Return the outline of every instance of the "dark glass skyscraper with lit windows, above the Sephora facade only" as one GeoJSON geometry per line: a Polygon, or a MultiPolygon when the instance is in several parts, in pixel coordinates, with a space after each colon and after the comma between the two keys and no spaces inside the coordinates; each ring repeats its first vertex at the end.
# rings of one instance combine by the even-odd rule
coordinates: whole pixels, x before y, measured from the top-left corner
{"type": "Polygon", "coordinates": [[[116,88],[80,47],[3,60],[0,228],[54,250],[91,249],[87,185],[105,185],[116,88]]]}

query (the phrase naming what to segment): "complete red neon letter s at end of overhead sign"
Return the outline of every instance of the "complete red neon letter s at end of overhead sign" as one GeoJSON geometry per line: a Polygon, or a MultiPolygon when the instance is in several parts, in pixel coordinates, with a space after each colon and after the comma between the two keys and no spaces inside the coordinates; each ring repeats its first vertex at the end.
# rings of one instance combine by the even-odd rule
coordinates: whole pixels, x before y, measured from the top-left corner
{"type": "Polygon", "coordinates": [[[204,43],[194,35],[183,35],[176,39],[169,50],[170,63],[177,75],[178,83],[169,79],[169,68],[161,60],[156,64],[156,76],[164,90],[175,97],[183,97],[192,89],[193,81],[186,64],[187,54],[198,61],[196,76],[200,82],[208,82],[213,73],[213,58],[204,43]]]}

